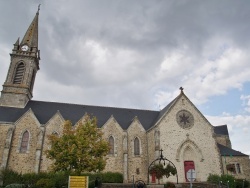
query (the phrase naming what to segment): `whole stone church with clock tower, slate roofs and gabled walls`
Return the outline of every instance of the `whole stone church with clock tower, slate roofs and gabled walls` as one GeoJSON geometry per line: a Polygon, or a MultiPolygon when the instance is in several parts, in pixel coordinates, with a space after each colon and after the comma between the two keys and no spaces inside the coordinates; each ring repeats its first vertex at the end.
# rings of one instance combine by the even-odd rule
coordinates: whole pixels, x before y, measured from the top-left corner
{"type": "Polygon", "coordinates": [[[179,182],[187,181],[190,169],[195,170],[196,181],[206,181],[209,174],[250,179],[249,156],[231,148],[227,126],[211,125],[183,88],[160,111],[31,100],[40,60],[38,17],[39,12],[10,54],[0,98],[1,168],[21,173],[49,171],[52,161],[44,154],[50,147],[47,136],[60,136],[65,120],[76,125],[88,113],[97,117],[110,144],[105,171],[122,173],[124,182],[148,178],[153,182],[148,167],[161,149],[175,165],[179,182]]]}

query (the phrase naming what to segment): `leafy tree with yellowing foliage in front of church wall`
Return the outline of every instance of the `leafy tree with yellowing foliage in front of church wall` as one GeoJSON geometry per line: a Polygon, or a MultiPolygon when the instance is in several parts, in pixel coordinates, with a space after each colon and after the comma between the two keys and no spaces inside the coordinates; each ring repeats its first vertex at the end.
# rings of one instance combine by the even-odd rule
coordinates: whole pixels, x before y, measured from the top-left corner
{"type": "Polygon", "coordinates": [[[51,149],[46,156],[54,160],[54,171],[81,172],[102,171],[106,165],[104,156],[108,154],[108,142],[102,139],[102,132],[97,128],[96,117],[85,116],[84,123],[76,127],[66,121],[63,134],[48,137],[51,149]]]}

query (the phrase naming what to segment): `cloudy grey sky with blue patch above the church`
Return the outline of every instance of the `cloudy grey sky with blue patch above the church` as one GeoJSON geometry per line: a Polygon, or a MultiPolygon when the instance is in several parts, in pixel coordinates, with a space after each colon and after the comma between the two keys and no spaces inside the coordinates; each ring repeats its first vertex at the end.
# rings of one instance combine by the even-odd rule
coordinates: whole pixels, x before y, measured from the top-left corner
{"type": "Polygon", "coordinates": [[[249,0],[2,0],[2,84],[39,4],[33,100],[160,110],[182,86],[250,155],[249,0]]]}

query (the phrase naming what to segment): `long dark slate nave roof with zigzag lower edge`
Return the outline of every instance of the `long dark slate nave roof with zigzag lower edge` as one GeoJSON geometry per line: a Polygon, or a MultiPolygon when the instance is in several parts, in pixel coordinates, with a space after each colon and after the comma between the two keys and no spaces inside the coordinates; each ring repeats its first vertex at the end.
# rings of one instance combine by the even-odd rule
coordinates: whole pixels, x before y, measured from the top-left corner
{"type": "Polygon", "coordinates": [[[103,126],[113,115],[120,126],[126,130],[137,116],[145,130],[154,125],[159,111],[138,110],[128,108],[114,108],[101,106],[88,106],[57,102],[29,101],[25,108],[0,107],[1,122],[16,122],[25,112],[32,109],[38,121],[46,124],[58,111],[65,120],[72,123],[79,121],[85,113],[94,115],[98,119],[98,127],[103,126]]]}

